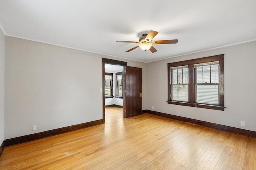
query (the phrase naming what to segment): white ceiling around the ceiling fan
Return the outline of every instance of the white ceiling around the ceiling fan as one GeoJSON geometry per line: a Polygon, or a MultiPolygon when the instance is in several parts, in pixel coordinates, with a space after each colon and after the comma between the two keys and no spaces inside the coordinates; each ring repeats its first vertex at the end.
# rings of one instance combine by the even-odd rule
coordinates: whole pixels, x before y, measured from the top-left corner
{"type": "Polygon", "coordinates": [[[0,0],[5,35],[150,62],[256,40],[256,0],[0,0]],[[158,31],[156,53],[134,43],[158,31]]]}

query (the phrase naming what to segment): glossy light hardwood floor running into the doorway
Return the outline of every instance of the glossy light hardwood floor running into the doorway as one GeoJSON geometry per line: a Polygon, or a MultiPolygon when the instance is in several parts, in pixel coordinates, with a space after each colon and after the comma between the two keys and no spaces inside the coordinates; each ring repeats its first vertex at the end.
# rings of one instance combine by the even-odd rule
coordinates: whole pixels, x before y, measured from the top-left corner
{"type": "Polygon", "coordinates": [[[145,113],[6,147],[0,169],[256,170],[256,139],[145,113]]]}

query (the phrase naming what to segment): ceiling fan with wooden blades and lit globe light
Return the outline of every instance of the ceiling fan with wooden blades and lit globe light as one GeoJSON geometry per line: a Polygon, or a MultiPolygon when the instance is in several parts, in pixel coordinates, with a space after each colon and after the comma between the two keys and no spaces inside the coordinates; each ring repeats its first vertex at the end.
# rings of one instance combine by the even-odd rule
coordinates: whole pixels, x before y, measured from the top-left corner
{"type": "Polygon", "coordinates": [[[152,41],[152,39],[158,34],[157,31],[149,31],[148,34],[143,34],[139,41],[116,41],[117,43],[140,43],[140,45],[137,45],[136,47],[133,47],[132,49],[129,49],[126,52],[130,52],[138,47],[140,47],[142,50],[147,51],[150,50],[152,53],[155,53],[157,50],[152,46],[153,44],[176,44],[178,43],[178,39],[169,39],[169,40],[157,40],[152,41]]]}

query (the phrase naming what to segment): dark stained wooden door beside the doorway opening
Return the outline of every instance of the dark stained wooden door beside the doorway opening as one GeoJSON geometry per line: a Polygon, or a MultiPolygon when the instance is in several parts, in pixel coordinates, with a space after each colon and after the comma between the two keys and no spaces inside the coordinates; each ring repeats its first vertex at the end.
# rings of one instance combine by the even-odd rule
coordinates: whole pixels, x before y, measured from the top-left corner
{"type": "Polygon", "coordinates": [[[142,114],[142,69],[126,66],[124,73],[124,117],[142,114]]]}

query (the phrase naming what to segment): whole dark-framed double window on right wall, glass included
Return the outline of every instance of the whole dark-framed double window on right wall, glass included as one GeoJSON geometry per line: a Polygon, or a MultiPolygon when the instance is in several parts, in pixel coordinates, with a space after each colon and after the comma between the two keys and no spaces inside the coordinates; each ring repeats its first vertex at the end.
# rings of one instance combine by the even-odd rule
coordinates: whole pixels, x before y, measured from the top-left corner
{"type": "Polygon", "coordinates": [[[167,102],[224,110],[224,55],[169,63],[167,102]]]}

